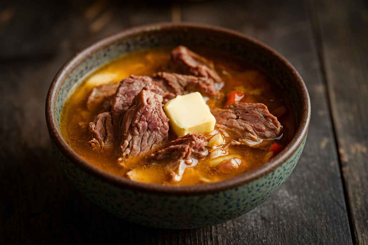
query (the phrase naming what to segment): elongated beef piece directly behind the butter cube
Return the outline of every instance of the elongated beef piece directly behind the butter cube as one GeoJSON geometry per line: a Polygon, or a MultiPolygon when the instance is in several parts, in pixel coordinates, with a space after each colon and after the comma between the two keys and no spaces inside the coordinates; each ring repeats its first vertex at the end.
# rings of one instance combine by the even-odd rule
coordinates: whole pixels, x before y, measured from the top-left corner
{"type": "Polygon", "coordinates": [[[154,79],[160,83],[160,86],[166,87],[167,91],[175,95],[187,94],[193,91],[199,91],[209,96],[216,96],[219,93],[212,78],[158,72],[154,79]]]}

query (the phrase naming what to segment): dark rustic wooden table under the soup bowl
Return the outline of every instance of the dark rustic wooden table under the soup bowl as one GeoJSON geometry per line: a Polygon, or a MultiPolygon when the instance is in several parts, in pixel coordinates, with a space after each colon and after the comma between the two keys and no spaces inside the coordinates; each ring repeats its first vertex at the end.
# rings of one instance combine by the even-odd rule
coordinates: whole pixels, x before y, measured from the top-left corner
{"type": "Polygon", "coordinates": [[[368,244],[367,1],[175,4],[0,3],[0,244],[368,244]],[[53,5],[51,5],[53,4],[53,5]],[[128,223],[57,169],[45,98],[61,65],[131,26],[224,26],[283,54],[307,84],[312,120],[289,180],[252,212],[197,230],[128,223]]]}

